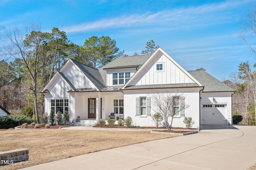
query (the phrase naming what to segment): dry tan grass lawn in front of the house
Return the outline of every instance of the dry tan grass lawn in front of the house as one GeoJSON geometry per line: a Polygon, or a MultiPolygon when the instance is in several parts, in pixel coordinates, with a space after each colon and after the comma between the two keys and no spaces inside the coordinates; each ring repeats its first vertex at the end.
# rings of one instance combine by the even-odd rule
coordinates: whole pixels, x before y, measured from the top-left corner
{"type": "Polygon", "coordinates": [[[0,166],[15,170],[73,156],[151,140],[174,137],[150,131],[107,130],[4,130],[0,131],[0,152],[29,148],[29,160],[0,166]]]}

